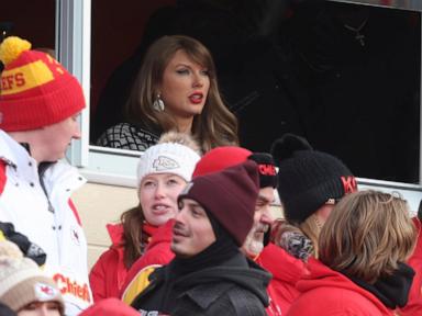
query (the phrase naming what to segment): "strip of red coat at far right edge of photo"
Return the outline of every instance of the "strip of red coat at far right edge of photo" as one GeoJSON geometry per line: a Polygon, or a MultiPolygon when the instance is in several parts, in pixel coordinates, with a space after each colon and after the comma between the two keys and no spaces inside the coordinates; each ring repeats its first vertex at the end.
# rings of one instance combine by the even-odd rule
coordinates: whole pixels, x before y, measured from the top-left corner
{"type": "Polygon", "coordinates": [[[412,267],[415,274],[412,287],[410,289],[408,304],[398,313],[401,316],[422,315],[422,224],[417,217],[413,218],[413,224],[418,232],[418,244],[408,264],[412,267]]]}

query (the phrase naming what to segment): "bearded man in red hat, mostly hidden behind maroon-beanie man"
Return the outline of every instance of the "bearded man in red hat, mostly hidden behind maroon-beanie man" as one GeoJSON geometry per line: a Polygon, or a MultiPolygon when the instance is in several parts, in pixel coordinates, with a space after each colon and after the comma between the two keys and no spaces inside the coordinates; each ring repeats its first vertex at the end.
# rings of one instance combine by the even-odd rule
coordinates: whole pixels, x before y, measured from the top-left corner
{"type": "MultiPolygon", "coordinates": [[[[290,256],[280,247],[269,241],[269,229],[274,222],[271,204],[275,200],[275,188],[277,187],[277,170],[273,156],[267,153],[252,153],[251,150],[237,146],[222,146],[208,151],[198,161],[192,177],[206,176],[212,172],[221,171],[237,163],[253,160],[258,165],[259,192],[255,203],[254,224],[243,242],[241,250],[249,259],[254,260],[264,269],[273,273],[273,280],[267,286],[269,306],[266,312],[269,316],[284,315],[287,308],[284,295],[284,286],[280,286],[280,280],[285,282],[292,273],[300,269],[303,263],[290,256]],[[288,262],[280,269],[278,261],[288,262]],[[298,268],[299,267],[299,268],[298,268]],[[281,289],[280,289],[281,287],[281,289]]],[[[138,260],[127,274],[125,291],[122,293],[122,300],[131,304],[134,297],[146,286],[147,275],[155,266],[152,259],[168,257],[169,244],[171,240],[173,223],[167,223],[160,227],[160,234],[156,234],[151,247],[145,256],[138,260]],[[158,236],[159,235],[159,236],[158,236]]],[[[155,259],[156,260],[156,259],[155,259]]]]}

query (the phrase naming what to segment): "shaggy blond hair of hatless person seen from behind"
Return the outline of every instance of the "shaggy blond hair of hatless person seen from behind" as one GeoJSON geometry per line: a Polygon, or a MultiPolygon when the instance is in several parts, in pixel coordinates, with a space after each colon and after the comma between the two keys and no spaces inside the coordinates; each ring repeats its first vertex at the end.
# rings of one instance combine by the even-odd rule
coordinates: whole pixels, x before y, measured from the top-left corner
{"type": "Polygon", "coordinates": [[[400,196],[367,190],[343,198],[320,234],[320,260],[374,283],[406,261],[415,244],[409,206],[400,196]]]}

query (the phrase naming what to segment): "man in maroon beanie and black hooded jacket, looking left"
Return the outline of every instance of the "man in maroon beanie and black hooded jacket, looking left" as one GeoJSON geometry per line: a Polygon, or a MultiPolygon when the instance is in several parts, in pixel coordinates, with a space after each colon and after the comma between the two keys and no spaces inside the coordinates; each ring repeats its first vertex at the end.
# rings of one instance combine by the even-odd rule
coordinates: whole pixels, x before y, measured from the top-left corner
{"type": "Polygon", "coordinates": [[[270,274],[238,250],[254,223],[258,190],[253,161],[196,177],[178,199],[176,257],[151,274],[132,306],[142,315],[266,315],[270,274]]]}

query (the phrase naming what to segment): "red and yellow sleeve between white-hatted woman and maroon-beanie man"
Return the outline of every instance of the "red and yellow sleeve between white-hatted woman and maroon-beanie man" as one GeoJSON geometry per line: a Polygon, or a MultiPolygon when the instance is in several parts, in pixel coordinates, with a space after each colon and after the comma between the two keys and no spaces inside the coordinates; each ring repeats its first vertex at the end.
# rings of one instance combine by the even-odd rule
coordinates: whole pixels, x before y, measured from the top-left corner
{"type": "Polygon", "coordinates": [[[133,293],[138,294],[141,293],[138,289],[146,286],[146,284],[143,283],[144,279],[141,278],[142,280],[140,280],[138,278],[140,272],[142,272],[144,268],[167,264],[175,257],[175,253],[170,250],[174,223],[174,219],[169,219],[166,224],[158,227],[152,236],[144,256],[132,264],[119,295],[125,303],[130,304],[134,295],[133,293]],[[126,293],[131,294],[126,295],[126,293]]]}

